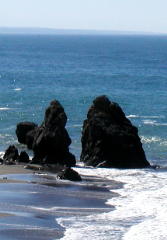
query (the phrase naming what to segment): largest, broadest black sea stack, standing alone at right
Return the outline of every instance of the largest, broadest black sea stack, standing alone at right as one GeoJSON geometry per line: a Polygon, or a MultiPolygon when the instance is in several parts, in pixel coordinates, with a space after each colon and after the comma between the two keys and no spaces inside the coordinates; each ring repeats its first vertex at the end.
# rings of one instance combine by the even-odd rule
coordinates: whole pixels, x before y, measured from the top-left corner
{"type": "Polygon", "coordinates": [[[90,107],[82,131],[81,161],[88,166],[113,168],[150,167],[138,129],[121,107],[106,96],[90,107]]]}

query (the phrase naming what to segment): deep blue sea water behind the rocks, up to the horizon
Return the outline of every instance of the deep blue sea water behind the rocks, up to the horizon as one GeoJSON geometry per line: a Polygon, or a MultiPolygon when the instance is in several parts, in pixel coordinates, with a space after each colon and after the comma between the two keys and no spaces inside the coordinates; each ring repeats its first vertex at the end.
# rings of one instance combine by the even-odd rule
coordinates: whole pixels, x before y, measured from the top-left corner
{"type": "Polygon", "coordinates": [[[0,35],[0,149],[20,121],[41,123],[58,99],[79,158],[83,120],[105,94],[139,128],[147,158],[166,165],[166,36],[0,35]]]}

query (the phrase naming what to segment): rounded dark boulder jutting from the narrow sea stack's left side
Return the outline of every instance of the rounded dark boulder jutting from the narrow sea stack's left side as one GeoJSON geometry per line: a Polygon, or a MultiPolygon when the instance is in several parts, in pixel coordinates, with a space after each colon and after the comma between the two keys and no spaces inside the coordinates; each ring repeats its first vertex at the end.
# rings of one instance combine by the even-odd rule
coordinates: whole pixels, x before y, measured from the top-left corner
{"type": "Polygon", "coordinates": [[[17,136],[18,141],[22,144],[27,144],[26,143],[27,134],[28,134],[28,132],[34,130],[35,128],[37,128],[37,124],[35,124],[33,122],[18,123],[17,127],[16,127],[16,136],[17,136]]]}

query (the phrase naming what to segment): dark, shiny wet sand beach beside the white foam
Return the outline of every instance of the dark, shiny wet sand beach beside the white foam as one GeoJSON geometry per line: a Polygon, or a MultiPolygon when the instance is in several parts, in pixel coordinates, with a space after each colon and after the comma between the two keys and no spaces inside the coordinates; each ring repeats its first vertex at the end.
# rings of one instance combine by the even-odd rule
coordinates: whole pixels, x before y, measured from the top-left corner
{"type": "Polygon", "coordinates": [[[3,240],[51,240],[64,234],[56,219],[112,211],[107,199],[119,183],[82,176],[76,183],[58,180],[55,174],[0,166],[0,236],[3,240]]]}

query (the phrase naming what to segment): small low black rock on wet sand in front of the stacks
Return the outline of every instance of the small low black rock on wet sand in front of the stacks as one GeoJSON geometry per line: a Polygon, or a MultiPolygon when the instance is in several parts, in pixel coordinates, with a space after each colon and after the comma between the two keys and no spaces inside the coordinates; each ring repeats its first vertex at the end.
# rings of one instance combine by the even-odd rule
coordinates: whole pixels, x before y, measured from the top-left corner
{"type": "Polygon", "coordinates": [[[61,172],[58,173],[58,178],[63,180],[70,180],[70,181],[82,181],[81,176],[75,170],[71,168],[63,169],[61,172]]]}

